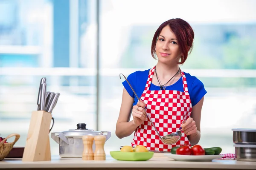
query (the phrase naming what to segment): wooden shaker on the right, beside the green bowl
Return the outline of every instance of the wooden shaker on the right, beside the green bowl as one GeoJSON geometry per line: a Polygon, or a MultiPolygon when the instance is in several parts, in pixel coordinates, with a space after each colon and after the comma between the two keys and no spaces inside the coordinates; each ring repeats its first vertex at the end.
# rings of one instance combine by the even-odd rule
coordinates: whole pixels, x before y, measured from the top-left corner
{"type": "Polygon", "coordinates": [[[106,154],[104,150],[106,136],[96,135],[94,136],[94,142],[95,142],[94,160],[106,160],[106,154]]]}

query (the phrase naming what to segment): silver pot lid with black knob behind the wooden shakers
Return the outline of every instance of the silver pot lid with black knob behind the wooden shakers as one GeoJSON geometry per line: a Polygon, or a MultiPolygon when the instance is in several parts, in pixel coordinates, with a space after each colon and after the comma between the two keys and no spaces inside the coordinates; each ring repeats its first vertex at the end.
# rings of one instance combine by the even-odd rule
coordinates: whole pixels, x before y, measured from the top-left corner
{"type": "Polygon", "coordinates": [[[86,128],[86,124],[85,123],[79,123],[76,125],[77,128],[76,129],[70,129],[67,131],[63,131],[61,132],[64,136],[85,136],[85,135],[102,135],[103,133],[101,131],[94,131],[91,129],[87,129],[86,128]]]}

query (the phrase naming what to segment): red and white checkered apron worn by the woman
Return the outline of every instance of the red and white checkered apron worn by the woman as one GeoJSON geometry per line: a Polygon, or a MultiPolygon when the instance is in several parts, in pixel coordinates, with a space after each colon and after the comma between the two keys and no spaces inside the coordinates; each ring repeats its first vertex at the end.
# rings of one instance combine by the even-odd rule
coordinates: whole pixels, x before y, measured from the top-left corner
{"type": "MultiPolygon", "coordinates": [[[[154,75],[154,69],[151,69],[145,90],[141,95],[141,99],[145,102],[148,116],[154,123],[161,137],[179,131],[182,121],[189,118],[192,111],[192,104],[189,97],[189,92],[186,83],[185,74],[182,74],[183,90],[159,90],[150,91],[149,87],[154,75]]],[[[148,150],[167,151],[170,152],[172,147],[188,144],[191,146],[186,134],[182,133],[180,141],[176,144],[163,144],[159,136],[151,125],[151,122],[146,119],[134,133],[134,139],[131,142],[132,146],[143,145],[148,150]]]]}

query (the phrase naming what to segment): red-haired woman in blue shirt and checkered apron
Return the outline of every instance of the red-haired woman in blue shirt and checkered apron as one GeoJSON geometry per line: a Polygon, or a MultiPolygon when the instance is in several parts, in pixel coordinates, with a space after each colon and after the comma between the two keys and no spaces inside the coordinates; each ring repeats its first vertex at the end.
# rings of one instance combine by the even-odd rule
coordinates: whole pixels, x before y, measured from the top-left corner
{"type": "Polygon", "coordinates": [[[194,76],[180,71],[188,53],[192,51],[194,31],[186,21],[177,18],[160,25],[151,44],[151,55],[157,65],[145,71],[136,71],[123,82],[122,104],[116,123],[120,139],[134,131],[132,146],[143,145],[148,150],[170,151],[184,144],[195,145],[200,140],[201,109],[207,91],[194,76]],[[131,116],[133,120],[128,122],[131,116]],[[182,137],[176,144],[163,144],[147,119],[154,122],[160,136],[176,132],[181,127],[182,137]]]}

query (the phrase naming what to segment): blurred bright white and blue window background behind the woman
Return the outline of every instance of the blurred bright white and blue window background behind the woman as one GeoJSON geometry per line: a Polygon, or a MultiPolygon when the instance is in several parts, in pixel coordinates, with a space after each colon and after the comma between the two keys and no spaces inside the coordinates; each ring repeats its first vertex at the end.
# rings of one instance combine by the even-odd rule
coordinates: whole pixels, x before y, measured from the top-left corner
{"type": "Polygon", "coordinates": [[[231,129],[256,128],[255,7],[255,0],[0,0],[0,136],[19,133],[15,146],[25,146],[46,77],[47,91],[61,94],[52,132],[86,123],[111,131],[106,152],[130,145],[133,135],[115,135],[119,74],[152,68],[154,32],[180,17],[195,31],[181,69],[208,92],[199,144],[234,153],[231,129]]]}

